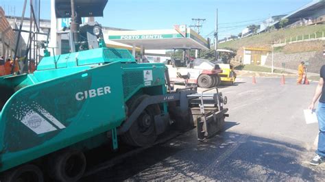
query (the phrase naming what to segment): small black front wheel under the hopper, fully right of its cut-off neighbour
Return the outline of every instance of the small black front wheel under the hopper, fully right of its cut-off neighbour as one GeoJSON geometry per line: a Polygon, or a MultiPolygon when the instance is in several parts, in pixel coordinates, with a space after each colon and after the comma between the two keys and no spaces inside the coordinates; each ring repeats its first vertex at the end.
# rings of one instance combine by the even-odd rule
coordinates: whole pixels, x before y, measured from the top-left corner
{"type": "Polygon", "coordinates": [[[58,152],[50,160],[51,176],[58,181],[78,181],[86,170],[86,157],[82,151],[58,152]]]}

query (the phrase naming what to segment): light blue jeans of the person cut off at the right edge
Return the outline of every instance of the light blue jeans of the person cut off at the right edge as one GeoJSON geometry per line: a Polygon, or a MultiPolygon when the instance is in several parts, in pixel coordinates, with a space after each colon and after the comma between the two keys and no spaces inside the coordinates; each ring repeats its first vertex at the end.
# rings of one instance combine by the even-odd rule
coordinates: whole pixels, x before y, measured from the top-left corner
{"type": "Polygon", "coordinates": [[[318,103],[317,119],[320,133],[318,135],[318,147],[316,153],[325,157],[325,103],[318,103]]]}

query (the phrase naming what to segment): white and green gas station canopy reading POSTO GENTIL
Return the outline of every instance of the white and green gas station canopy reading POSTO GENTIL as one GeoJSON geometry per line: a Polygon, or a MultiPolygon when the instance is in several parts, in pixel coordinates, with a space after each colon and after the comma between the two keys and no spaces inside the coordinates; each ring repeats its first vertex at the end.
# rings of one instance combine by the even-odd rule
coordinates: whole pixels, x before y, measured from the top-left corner
{"type": "Polygon", "coordinates": [[[108,31],[106,43],[114,41],[144,49],[209,49],[208,40],[193,29],[185,29],[186,31],[182,32],[176,29],[108,31]]]}

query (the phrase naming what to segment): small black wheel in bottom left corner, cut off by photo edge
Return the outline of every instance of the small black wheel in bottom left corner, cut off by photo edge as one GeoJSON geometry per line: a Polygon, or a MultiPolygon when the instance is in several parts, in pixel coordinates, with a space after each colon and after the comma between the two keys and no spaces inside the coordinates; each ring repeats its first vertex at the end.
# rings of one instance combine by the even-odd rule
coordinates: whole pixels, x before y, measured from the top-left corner
{"type": "Polygon", "coordinates": [[[18,168],[14,168],[5,172],[3,174],[3,178],[1,179],[3,182],[43,182],[43,172],[37,166],[33,164],[27,164],[24,166],[20,166],[18,168]]]}

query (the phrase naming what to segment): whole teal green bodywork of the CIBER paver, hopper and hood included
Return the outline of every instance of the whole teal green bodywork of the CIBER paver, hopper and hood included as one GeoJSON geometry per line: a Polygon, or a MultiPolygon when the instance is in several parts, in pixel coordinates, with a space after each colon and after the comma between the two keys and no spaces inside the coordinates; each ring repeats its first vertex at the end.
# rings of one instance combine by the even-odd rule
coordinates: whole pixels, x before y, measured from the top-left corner
{"type": "MultiPolygon", "coordinates": [[[[126,118],[126,101],[167,92],[165,65],[136,64],[127,50],[56,57],[56,64],[43,58],[33,74],[0,77],[0,172],[68,146],[107,142],[106,131],[126,118]]],[[[167,112],[166,103],[161,108],[167,112]]]]}

